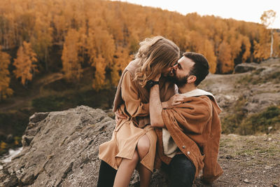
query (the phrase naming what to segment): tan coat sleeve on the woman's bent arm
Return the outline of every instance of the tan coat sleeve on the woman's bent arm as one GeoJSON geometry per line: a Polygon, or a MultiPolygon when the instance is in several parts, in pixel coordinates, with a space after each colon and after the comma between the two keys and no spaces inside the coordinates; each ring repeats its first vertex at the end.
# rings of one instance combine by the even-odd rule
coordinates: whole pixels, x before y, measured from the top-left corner
{"type": "Polygon", "coordinates": [[[128,71],[123,76],[121,92],[122,98],[125,102],[125,108],[130,116],[137,117],[149,115],[149,104],[141,102],[137,85],[135,85],[135,82],[132,80],[132,76],[128,71]]]}

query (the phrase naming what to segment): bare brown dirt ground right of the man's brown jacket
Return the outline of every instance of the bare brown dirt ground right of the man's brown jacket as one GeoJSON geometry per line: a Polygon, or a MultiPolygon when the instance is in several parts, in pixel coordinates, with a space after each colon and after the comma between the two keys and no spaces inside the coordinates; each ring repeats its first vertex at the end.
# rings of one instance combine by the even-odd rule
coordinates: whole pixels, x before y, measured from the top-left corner
{"type": "MultiPolygon", "coordinates": [[[[219,163],[223,175],[211,186],[280,186],[280,132],[222,135],[219,163]]],[[[200,179],[196,186],[207,186],[200,179]]]]}

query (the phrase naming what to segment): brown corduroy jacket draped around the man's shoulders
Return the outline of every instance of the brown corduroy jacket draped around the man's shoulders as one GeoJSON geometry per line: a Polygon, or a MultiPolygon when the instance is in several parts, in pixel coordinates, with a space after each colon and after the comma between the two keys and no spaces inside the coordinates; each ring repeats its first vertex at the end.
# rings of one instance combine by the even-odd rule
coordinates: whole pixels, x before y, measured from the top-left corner
{"type": "MultiPolygon", "coordinates": [[[[220,112],[215,99],[206,95],[186,97],[183,104],[162,110],[162,119],[172,139],[195,165],[195,176],[203,169],[202,177],[209,183],[223,174],[223,169],[218,164],[220,112]]],[[[156,129],[156,133],[158,139],[162,139],[162,130],[156,129]]],[[[157,146],[156,168],[160,167],[161,160],[167,164],[171,161],[163,153],[162,141],[158,141],[157,146]]]]}

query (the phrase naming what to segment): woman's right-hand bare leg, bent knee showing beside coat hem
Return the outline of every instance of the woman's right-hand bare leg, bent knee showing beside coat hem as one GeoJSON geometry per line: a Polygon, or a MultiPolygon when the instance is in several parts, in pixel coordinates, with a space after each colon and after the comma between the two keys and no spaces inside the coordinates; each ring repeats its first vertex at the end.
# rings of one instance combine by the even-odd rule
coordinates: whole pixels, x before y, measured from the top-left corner
{"type": "MultiPolygon", "coordinates": [[[[142,160],[148,153],[150,149],[150,139],[145,134],[141,137],[137,143],[137,152],[139,155],[139,160],[142,160]]],[[[139,163],[139,174],[140,174],[140,187],[147,187],[149,186],[152,172],[147,169],[144,165],[139,163]]]]}

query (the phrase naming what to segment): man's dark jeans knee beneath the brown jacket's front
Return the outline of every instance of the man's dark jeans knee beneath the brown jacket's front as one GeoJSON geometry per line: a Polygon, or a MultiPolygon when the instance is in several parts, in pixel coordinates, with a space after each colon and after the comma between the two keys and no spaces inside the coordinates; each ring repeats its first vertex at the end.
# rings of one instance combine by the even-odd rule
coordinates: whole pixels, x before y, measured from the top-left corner
{"type": "Polygon", "coordinates": [[[175,155],[169,165],[162,164],[162,169],[169,175],[170,186],[193,186],[195,165],[193,165],[192,161],[188,160],[186,155],[175,155]]]}

